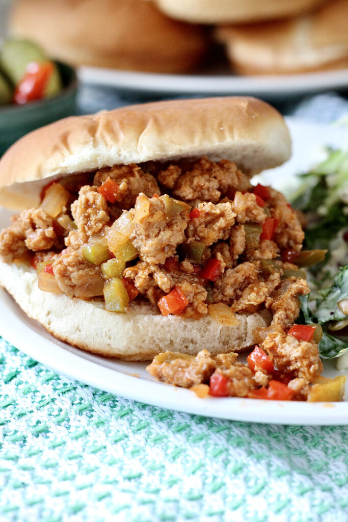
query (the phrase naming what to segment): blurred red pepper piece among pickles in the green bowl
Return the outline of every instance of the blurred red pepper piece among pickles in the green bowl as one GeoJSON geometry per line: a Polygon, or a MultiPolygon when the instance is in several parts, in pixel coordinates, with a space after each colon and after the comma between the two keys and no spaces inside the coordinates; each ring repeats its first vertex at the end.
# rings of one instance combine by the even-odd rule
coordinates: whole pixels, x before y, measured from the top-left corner
{"type": "Polygon", "coordinates": [[[30,62],[24,76],[16,86],[14,103],[22,105],[28,101],[41,100],[53,70],[52,62],[30,62]]]}

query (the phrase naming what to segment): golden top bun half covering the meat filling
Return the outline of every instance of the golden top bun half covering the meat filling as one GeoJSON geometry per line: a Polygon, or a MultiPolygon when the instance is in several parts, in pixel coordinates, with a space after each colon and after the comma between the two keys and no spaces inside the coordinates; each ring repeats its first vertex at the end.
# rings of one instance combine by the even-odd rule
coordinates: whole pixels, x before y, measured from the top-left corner
{"type": "Polygon", "coordinates": [[[289,159],[291,139],[282,116],[255,98],[175,100],[76,116],[17,141],[0,160],[0,204],[40,204],[53,176],[115,164],[208,156],[230,159],[254,174],[289,159]]]}

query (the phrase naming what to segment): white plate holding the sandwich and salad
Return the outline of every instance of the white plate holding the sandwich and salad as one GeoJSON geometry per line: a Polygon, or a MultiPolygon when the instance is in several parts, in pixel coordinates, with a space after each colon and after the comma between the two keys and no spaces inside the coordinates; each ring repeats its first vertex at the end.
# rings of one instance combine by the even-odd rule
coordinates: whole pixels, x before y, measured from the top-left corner
{"type": "MultiPolygon", "coordinates": [[[[293,136],[293,158],[283,167],[265,172],[263,179],[275,187],[284,187],[294,172],[310,166],[318,156],[320,145],[342,146],[345,132],[341,128],[316,126],[289,121],[293,136]]],[[[9,212],[0,211],[0,228],[7,226],[9,212]]],[[[24,314],[10,295],[0,290],[0,334],[19,350],[53,370],[107,392],[162,408],[241,421],[279,424],[348,424],[348,402],[307,403],[263,401],[239,398],[199,399],[190,390],[155,381],[145,363],[104,359],[71,347],[52,337],[41,325],[24,314]]],[[[344,374],[325,363],[326,376],[344,374]]],[[[348,390],[347,390],[348,392],[348,390]]],[[[348,395],[348,393],[347,393],[348,395]]]]}

